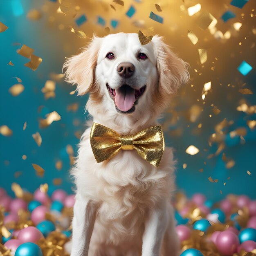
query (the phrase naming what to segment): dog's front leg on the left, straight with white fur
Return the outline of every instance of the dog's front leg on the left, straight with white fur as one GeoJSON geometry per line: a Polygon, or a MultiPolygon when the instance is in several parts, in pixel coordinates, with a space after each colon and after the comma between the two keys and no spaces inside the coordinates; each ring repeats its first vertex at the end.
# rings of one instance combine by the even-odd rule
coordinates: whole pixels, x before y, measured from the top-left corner
{"type": "Polygon", "coordinates": [[[76,194],[72,220],[71,256],[88,256],[88,249],[95,221],[95,205],[76,194]]]}

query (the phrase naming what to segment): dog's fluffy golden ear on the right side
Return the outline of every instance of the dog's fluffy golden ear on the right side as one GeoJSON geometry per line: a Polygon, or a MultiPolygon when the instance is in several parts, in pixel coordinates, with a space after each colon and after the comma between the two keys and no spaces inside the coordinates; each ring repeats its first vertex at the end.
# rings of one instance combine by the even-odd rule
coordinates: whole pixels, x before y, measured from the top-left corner
{"type": "Polygon", "coordinates": [[[177,94],[180,85],[189,81],[189,64],[171,51],[162,36],[154,36],[152,42],[157,58],[159,92],[163,96],[177,94]]]}

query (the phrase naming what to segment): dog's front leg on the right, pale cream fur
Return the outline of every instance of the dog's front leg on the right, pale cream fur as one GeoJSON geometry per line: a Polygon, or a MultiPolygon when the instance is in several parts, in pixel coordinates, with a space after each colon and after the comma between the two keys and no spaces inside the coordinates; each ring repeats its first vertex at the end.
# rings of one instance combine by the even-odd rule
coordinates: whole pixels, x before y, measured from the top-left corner
{"type": "Polygon", "coordinates": [[[165,206],[150,211],[142,238],[142,256],[159,256],[167,220],[165,206]]]}

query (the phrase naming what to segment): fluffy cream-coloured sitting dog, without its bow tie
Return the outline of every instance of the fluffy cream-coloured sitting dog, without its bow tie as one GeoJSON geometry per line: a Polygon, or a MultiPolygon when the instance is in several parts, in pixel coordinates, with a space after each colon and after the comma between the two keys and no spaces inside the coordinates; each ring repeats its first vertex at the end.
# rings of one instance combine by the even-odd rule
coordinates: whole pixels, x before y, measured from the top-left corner
{"type": "MultiPolygon", "coordinates": [[[[93,121],[120,135],[157,126],[189,65],[160,36],[141,45],[138,34],[93,36],[83,51],[63,65],[65,81],[89,93],[86,110],[93,121]]],[[[88,121],[72,168],[76,202],[71,256],[177,256],[171,197],[175,161],[165,148],[159,167],[135,150],[97,163],[88,121]]]]}

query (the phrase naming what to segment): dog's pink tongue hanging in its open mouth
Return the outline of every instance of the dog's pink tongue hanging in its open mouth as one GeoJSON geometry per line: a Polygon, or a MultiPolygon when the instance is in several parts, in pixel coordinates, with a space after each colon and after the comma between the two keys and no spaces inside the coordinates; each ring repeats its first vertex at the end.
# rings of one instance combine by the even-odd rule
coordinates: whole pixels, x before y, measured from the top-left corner
{"type": "Polygon", "coordinates": [[[128,86],[122,86],[115,90],[115,103],[121,111],[128,111],[135,102],[135,89],[128,86]]]}

